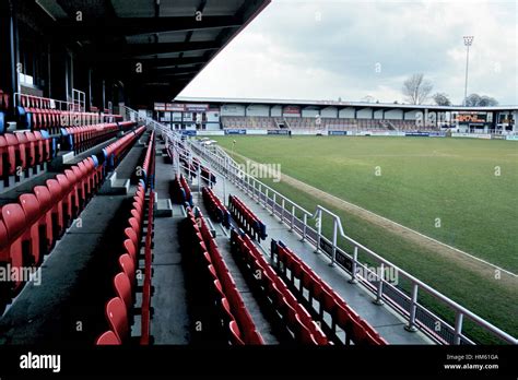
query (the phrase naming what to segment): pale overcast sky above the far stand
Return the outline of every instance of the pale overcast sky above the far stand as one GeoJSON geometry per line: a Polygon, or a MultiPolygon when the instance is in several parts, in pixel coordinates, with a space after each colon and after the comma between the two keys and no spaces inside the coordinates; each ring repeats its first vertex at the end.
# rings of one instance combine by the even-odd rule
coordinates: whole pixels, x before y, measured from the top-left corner
{"type": "Polygon", "coordinates": [[[422,72],[435,92],[518,104],[517,2],[273,0],[180,96],[404,102],[422,72]]]}

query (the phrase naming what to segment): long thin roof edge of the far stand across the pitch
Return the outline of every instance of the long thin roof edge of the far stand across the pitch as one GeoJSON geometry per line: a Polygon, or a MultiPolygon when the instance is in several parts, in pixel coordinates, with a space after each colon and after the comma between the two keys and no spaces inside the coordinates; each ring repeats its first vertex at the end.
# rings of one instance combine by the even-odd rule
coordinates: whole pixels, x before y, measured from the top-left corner
{"type": "Polygon", "coordinates": [[[245,104],[245,105],[285,105],[305,107],[356,107],[356,108],[395,108],[395,109],[433,109],[433,110],[462,110],[462,111],[504,111],[518,110],[518,106],[495,106],[495,107],[462,107],[462,106],[436,106],[436,105],[413,105],[395,103],[367,103],[367,102],[337,102],[337,100],[298,100],[298,99],[258,99],[258,98],[232,98],[232,97],[189,97],[177,96],[175,102],[180,103],[210,103],[210,104],[245,104]]]}

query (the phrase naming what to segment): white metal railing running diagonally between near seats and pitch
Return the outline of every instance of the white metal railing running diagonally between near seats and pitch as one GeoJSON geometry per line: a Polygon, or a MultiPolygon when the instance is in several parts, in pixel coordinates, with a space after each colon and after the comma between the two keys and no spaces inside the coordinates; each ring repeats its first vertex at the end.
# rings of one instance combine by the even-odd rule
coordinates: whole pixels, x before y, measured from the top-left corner
{"type": "MultiPolygon", "coordinates": [[[[161,132],[168,143],[174,144],[183,140],[181,134],[172,131],[154,120],[150,124],[161,132]]],[[[184,140],[183,144],[210,164],[213,169],[223,175],[237,188],[250,195],[256,202],[269,210],[272,215],[279,217],[281,222],[285,223],[292,230],[299,234],[303,240],[307,240],[314,245],[317,253],[321,251],[329,256],[331,265],[338,264],[351,275],[351,283],[360,282],[376,295],[376,304],[381,305],[387,302],[388,306],[402,314],[408,320],[405,330],[415,331],[420,329],[427,336],[440,344],[474,344],[474,342],[462,332],[463,319],[467,318],[504,342],[510,344],[518,343],[516,337],[392,264],[361,242],[346,236],[343,231],[340,217],[329,210],[318,205],[315,213],[308,212],[276,190],[243,171],[239,165],[217,145],[207,146],[191,140],[184,140]],[[326,237],[321,229],[321,218],[323,214],[331,216],[333,221],[331,239],[326,237]],[[315,225],[316,229],[308,223],[309,219],[317,219],[318,223],[315,225]],[[351,252],[346,252],[340,247],[339,238],[352,247],[351,252]],[[380,270],[375,271],[367,264],[360,262],[358,256],[361,253],[376,261],[380,270]],[[396,284],[392,284],[390,278],[385,278],[384,270],[388,269],[396,271],[399,281],[404,280],[410,284],[410,295],[396,284]],[[455,312],[455,325],[450,325],[432,310],[419,304],[417,296],[421,293],[432,296],[435,300],[452,310],[455,312]]]]}

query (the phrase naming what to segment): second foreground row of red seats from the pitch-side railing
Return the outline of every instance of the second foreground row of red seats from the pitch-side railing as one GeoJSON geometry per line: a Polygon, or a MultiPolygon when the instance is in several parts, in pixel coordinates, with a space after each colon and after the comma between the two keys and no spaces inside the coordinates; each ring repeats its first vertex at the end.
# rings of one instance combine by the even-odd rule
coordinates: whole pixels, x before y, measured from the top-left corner
{"type": "Polygon", "coordinates": [[[246,234],[232,229],[231,245],[232,253],[248,272],[254,287],[260,290],[297,343],[332,344],[246,234]]]}

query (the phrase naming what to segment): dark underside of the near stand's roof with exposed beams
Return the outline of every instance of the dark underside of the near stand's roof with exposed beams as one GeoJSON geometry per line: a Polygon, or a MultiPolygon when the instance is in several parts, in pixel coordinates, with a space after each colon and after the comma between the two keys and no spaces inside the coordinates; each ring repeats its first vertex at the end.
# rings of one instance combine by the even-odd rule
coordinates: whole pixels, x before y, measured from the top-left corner
{"type": "MultiPolygon", "coordinates": [[[[36,0],[56,38],[134,88],[170,99],[271,0],[36,0]],[[137,69],[140,63],[142,70],[137,69]]],[[[145,96],[144,96],[145,94],[145,96]]],[[[134,103],[134,102],[133,102],[134,103]]]]}

